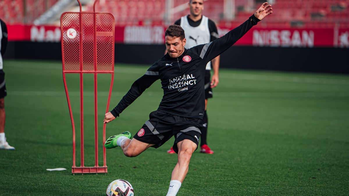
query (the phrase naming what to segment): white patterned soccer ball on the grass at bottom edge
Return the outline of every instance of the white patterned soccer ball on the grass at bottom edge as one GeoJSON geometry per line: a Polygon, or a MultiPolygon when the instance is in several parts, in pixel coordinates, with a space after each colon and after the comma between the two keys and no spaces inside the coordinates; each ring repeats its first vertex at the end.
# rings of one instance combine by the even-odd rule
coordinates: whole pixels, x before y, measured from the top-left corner
{"type": "Polygon", "coordinates": [[[107,188],[107,196],[134,196],[132,185],[126,180],[114,180],[107,188]]]}

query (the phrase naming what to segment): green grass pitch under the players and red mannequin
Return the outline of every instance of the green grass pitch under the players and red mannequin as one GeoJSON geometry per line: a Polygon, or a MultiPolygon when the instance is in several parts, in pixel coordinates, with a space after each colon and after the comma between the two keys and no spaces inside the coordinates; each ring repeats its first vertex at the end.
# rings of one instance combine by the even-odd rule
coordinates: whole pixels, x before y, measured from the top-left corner
{"type": "MultiPolygon", "coordinates": [[[[147,67],[119,65],[110,108],[147,67]]],[[[107,174],[72,175],[72,127],[61,62],[5,60],[6,136],[15,151],[0,151],[0,195],[105,195],[116,179],[135,195],[165,195],[177,157],[173,139],[135,158],[107,150],[107,174]],[[65,167],[67,171],[46,171],[65,167]]],[[[94,161],[92,75],[85,75],[86,166],[94,161]]],[[[77,129],[79,77],[68,75],[77,129]]],[[[110,75],[98,75],[99,127],[110,75]]],[[[106,137],[148,120],[162,98],[159,81],[119,118],[106,137]]],[[[349,77],[221,69],[208,104],[208,144],[213,155],[195,151],[178,195],[349,195],[349,77]]],[[[103,145],[99,135],[100,147],[103,145]]],[[[102,149],[99,149],[102,152],[102,149]]],[[[99,163],[102,163],[102,154],[99,163]]]]}

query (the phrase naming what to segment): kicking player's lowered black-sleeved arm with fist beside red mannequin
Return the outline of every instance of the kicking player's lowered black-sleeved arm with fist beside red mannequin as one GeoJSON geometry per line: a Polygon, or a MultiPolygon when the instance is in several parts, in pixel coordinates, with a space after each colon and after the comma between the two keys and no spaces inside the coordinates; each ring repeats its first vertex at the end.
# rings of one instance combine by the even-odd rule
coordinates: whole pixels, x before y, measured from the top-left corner
{"type": "Polygon", "coordinates": [[[119,104],[114,109],[105,114],[103,123],[108,123],[114,120],[119,114],[126,109],[127,106],[133,103],[142,93],[151,86],[157,79],[158,75],[155,75],[155,71],[147,71],[142,77],[138,78],[128,90],[126,95],[122,97],[119,104]]]}

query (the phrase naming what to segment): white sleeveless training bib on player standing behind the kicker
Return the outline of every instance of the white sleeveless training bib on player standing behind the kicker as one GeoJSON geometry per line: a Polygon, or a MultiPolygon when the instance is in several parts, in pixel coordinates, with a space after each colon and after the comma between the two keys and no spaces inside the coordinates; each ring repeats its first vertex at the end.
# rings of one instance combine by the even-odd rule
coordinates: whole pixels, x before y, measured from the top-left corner
{"type": "MultiPolygon", "coordinates": [[[[191,48],[200,44],[210,42],[210,30],[208,29],[208,17],[202,16],[201,23],[198,27],[192,27],[187,16],[180,18],[180,26],[184,29],[185,39],[187,43],[185,48],[191,48]]],[[[207,63],[206,70],[211,70],[211,61],[207,63]]]]}

